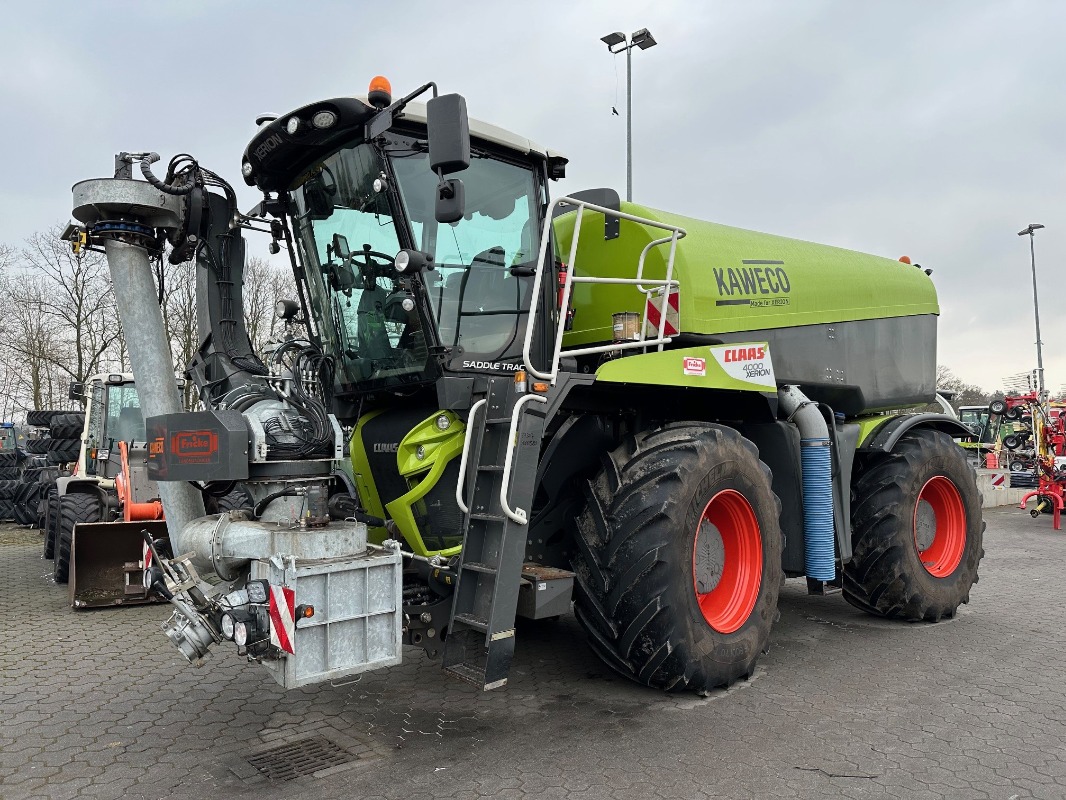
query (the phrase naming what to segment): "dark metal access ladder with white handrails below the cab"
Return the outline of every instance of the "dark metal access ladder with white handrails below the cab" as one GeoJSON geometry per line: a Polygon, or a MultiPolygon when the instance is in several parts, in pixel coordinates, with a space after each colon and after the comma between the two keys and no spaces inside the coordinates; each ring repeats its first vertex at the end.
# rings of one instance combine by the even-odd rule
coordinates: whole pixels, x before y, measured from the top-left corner
{"type": "Polygon", "coordinates": [[[547,398],[490,378],[467,422],[455,499],[463,554],[443,669],[483,689],[507,682],[547,398]]]}

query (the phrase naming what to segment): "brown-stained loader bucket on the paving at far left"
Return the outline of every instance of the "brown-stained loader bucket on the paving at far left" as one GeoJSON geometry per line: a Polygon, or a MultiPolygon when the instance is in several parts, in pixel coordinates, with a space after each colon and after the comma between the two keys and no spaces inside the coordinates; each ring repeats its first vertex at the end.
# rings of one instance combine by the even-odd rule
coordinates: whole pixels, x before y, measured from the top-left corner
{"type": "Polygon", "coordinates": [[[158,603],[143,583],[144,537],[166,535],[165,522],[78,523],[70,541],[70,607],[158,603]]]}

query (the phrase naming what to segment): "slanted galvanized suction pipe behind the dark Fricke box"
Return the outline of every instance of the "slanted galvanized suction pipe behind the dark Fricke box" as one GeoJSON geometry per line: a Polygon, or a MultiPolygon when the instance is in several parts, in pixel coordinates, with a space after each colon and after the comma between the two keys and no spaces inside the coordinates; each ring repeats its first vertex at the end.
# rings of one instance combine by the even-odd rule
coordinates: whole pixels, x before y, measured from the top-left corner
{"type": "MultiPolygon", "coordinates": [[[[174,361],[164,334],[148,253],[139,245],[112,240],[104,242],[104,252],[142,414],[145,419],[178,414],[182,409],[174,380],[174,361]]],[[[183,553],[181,531],[193,519],[204,516],[204,498],[184,481],[160,481],[159,497],[174,553],[183,553]]]]}

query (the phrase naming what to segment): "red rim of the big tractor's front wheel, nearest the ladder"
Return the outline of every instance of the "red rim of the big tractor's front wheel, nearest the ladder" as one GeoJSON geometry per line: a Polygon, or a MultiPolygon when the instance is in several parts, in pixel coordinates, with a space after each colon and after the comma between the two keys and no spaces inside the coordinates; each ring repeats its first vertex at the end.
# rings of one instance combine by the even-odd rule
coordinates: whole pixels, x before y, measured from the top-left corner
{"type": "Polygon", "coordinates": [[[704,508],[692,545],[692,585],[704,620],[720,634],[738,630],[752,614],[761,583],[759,521],[744,495],[731,489],[723,490],[704,508]],[[722,563],[721,571],[715,571],[716,576],[720,575],[715,585],[708,591],[700,591],[700,576],[712,566],[702,563],[707,559],[707,548],[700,547],[701,535],[715,535],[714,530],[706,527],[708,525],[721,537],[722,563]]]}

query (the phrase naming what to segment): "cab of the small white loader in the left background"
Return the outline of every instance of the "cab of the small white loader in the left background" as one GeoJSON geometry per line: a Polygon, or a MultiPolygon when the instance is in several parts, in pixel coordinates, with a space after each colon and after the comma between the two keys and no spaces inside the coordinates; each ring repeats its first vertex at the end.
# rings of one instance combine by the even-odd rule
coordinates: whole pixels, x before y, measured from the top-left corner
{"type": "Polygon", "coordinates": [[[122,471],[118,443],[147,441],[141,399],[130,374],[100,375],[90,381],[86,439],[81,475],[113,479],[122,471]]]}

